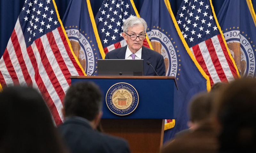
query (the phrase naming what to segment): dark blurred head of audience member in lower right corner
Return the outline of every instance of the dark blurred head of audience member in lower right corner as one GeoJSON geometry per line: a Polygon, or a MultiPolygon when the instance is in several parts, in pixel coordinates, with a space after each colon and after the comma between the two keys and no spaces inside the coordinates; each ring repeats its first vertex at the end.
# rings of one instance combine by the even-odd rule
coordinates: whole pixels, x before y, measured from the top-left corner
{"type": "Polygon", "coordinates": [[[256,80],[238,79],[225,87],[216,117],[220,152],[256,152],[256,80]]]}

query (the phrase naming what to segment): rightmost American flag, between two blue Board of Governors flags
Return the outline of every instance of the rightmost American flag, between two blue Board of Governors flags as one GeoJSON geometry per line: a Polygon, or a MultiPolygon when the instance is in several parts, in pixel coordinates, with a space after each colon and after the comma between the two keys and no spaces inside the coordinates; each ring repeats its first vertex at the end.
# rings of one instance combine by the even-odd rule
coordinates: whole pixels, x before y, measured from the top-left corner
{"type": "Polygon", "coordinates": [[[210,77],[211,84],[229,82],[239,74],[211,6],[210,0],[184,0],[176,20],[197,62],[210,77]]]}

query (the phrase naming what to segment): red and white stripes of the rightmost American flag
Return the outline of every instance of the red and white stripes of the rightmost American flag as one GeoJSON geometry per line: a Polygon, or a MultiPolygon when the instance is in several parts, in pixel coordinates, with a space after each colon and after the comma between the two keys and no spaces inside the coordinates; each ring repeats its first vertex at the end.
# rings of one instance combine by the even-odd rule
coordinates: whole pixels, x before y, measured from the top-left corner
{"type": "Polygon", "coordinates": [[[237,77],[235,66],[220,34],[191,47],[190,50],[210,77],[211,84],[229,82],[237,77]]]}

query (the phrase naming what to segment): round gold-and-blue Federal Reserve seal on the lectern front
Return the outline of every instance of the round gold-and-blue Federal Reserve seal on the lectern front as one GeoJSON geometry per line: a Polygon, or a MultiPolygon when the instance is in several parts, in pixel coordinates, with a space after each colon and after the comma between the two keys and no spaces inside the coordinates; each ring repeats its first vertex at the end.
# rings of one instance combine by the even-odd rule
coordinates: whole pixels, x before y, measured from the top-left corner
{"type": "Polygon", "coordinates": [[[108,89],[106,103],[112,113],[128,115],[137,108],[139,95],[131,84],[117,83],[108,89]]]}

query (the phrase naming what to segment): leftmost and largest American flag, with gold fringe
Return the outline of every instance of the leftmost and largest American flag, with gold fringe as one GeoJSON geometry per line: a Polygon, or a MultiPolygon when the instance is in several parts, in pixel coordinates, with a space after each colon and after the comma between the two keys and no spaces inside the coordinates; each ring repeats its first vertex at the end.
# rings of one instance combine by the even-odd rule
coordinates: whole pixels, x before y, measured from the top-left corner
{"type": "Polygon", "coordinates": [[[52,0],[26,0],[0,59],[0,83],[33,86],[56,125],[63,120],[62,100],[70,76],[84,75],[68,45],[52,0]]]}

